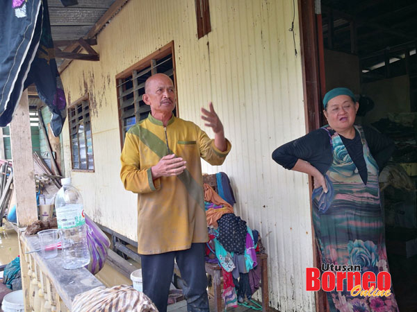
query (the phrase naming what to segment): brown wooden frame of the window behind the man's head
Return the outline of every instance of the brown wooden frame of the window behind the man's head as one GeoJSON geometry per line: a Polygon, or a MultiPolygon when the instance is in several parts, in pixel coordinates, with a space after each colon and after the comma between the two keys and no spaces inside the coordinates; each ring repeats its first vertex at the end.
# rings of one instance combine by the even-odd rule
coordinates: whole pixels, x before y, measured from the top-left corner
{"type": "MultiPolygon", "coordinates": [[[[116,95],[117,95],[117,115],[118,115],[118,119],[119,119],[119,135],[120,135],[120,150],[123,149],[123,144],[124,144],[124,125],[123,125],[123,120],[122,120],[122,110],[120,109],[120,92],[122,92],[122,90],[120,90],[118,87],[120,85],[119,80],[120,79],[126,79],[129,76],[135,76],[135,71],[136,72],[140,72],[144,69],[146,69],[147,67],[152,67],[152,75],[154,73],[156,73],[156,69],[154,71],[154,67],[155,66],[153,64],[154,60],[161,60],[162,58],[165,58],[167,55],[172,55],[172,76],[173,80],[174,80],[174,86],[175,86],[175,96],[177,98],[177,105],[176,105],[176,113],[177,116],[179,116],[179,107],[178,107],[178,94],[177,94],[177,74],[176,74],[176,67],[175,67],[175,53],[174,53],[174,41],[172,40],[171,42],[169,42],[168,44],[165,44],[165,46],[162,46],[160,49],[156,50],[154,53],[148,55],[146,58],[143,58],[142,60],[140,60],[139,62],[136,62],[135,64],[133,64],[131,67],[124,69],[124,71],[117,73],[116,77],[115,77],[115,82],[116,82],[116,95]]],[[[157,67],[158,65],[156,65],[157,67]]],[[[136,92],[133,91],[133,104],[135,104],[135,112],[136,110],[136,101],[135,101],[135,97],[137,96],[136,92]]],[[[136,121],[136,123],[138,123],[138,121],[136,121]]]]}

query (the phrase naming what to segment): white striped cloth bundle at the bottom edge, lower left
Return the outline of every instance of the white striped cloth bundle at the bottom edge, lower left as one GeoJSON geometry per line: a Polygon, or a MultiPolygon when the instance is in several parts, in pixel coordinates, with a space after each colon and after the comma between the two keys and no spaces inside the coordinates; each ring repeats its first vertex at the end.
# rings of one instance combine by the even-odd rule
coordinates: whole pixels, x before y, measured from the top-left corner
{"type": "Polygon", "coordinates": [[[158,312],[152,301],[131,286],[100,286],[76,295],[72,312],[158,312]]]}

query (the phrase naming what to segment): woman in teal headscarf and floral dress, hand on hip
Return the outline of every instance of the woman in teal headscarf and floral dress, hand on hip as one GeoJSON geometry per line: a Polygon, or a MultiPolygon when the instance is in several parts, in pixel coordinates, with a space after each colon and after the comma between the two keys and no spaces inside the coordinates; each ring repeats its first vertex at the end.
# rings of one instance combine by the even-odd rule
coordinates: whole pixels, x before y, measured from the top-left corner
{"type": "MultiPolygon", "coordinates": [[[[377,276],[389,271],[378,174],[395,147],[372,128],[354,125],[359,103],[349,89],[332,89],[323,104],[329,125],[277,148],[272,159],[314,178],[313,226],[322,268],[359,266],[377,276]]],[[[327,299],[331,311],[398,311],[392,288],[389,297],[361,297],[344,283],[327,299]]]]}

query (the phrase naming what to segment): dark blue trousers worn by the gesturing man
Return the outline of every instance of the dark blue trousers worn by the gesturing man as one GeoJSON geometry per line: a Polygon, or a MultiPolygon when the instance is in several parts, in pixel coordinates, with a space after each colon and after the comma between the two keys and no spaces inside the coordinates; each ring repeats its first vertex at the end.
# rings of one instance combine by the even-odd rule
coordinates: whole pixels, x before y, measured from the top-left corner
{"type": "Polygon", "coordinates": [[[143,293],[154,302],[159,312],[167,311],[168,293],[174,259],[184,281],[183,294],[188,311],[209,311],[204,243],[193,243],[190,249],[163,254],[141,254],[143,293]]]}

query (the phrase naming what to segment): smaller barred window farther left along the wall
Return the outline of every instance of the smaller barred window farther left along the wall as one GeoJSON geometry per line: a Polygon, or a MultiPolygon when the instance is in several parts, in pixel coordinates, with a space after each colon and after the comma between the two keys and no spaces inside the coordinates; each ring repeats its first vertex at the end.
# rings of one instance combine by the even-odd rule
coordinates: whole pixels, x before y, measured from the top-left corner
{"type": "Polygon", "coordinates": [[[94,170],[89,104],[86,95],[68,108],[72,168],[75,170],[94,170]]]}

